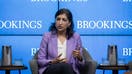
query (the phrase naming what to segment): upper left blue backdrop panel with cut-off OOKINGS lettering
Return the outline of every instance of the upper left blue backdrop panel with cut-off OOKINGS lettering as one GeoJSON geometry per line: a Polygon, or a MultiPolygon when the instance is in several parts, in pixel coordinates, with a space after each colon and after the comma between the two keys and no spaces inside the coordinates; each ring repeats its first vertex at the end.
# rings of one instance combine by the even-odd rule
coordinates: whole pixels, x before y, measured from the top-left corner
{"type": "Polygon", "coordinates": [[[57,10],[57,1],[0,0],[0,35],[43,34],[57,10]]]}

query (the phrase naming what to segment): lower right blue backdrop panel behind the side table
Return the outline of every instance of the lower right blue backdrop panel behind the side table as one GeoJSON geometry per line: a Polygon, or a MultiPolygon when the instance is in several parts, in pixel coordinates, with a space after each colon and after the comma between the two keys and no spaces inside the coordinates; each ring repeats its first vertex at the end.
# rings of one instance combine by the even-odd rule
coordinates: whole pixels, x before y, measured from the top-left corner
{"type": "MultiPolygon", "coordinates": [[[[98,64],[102,63],[102,59],[107,59],[108,45],[117,45],[118,62],[127,64],[132,60],[132,36],[81,36],[83,46],[91,54],[92,58],[98,64]]],[[[96,70],[96,74],[102,74],[103,71],[96,70]]],[[[120,70],[119,74],[124,74],[125,70],[120,70]]],[[[105,71],[111,74],[111,71],[105,71]]]]}

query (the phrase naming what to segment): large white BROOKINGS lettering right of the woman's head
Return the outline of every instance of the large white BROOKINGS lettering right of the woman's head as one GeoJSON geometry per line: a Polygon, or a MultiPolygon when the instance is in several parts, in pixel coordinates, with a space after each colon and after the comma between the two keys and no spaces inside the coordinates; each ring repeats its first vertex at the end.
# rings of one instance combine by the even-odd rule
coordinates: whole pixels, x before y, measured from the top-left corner
{"type": "Polygon", "coordinates": [[[131,20],[77,20],[78,29],[132,29],[131,20]]]}

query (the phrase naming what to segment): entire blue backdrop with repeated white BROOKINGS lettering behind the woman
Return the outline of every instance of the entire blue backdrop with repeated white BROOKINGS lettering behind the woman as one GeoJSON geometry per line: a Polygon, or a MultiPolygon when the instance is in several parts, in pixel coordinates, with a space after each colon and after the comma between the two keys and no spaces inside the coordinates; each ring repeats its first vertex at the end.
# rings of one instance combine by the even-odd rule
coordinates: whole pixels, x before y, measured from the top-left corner
{"type": "MultiPolygon", "coordinates": [[[[39,49],[43,33],[54,22],[58,8],[68,8],[73,13],[75,31],[94,60],[102,63],[102,58],[107,58],[108,45],[117,45],[118,59],[128,63],[132,60],[131,3],[131,0],[1,0],[0,52],[2,45],[11,45],[12,62],[22,59],[28,67],[22,74],[31,74],[29,60],[39,49]],[[125,49],[130,52],[124,52],[125,49]]],[[[101,73],[96,70],[96,74],[101,73]]]]}

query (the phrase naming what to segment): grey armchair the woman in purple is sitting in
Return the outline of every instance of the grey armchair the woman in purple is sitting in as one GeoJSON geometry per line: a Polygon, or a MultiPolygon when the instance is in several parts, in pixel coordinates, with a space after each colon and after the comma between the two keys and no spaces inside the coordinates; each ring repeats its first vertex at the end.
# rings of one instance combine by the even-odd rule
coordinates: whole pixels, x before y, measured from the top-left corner
{"type": "MultiPolygon", "coordinates": [[[[85,48],[83,48],[82,53],[85,60],[85,67],[80,68],[80,74],[95,74],[97,62],[92,59],[85,48]]],[[[36,52],[34,57],[29,61],[32,74],[38,74],[37,54],[38,52],[36,52]]]]}

